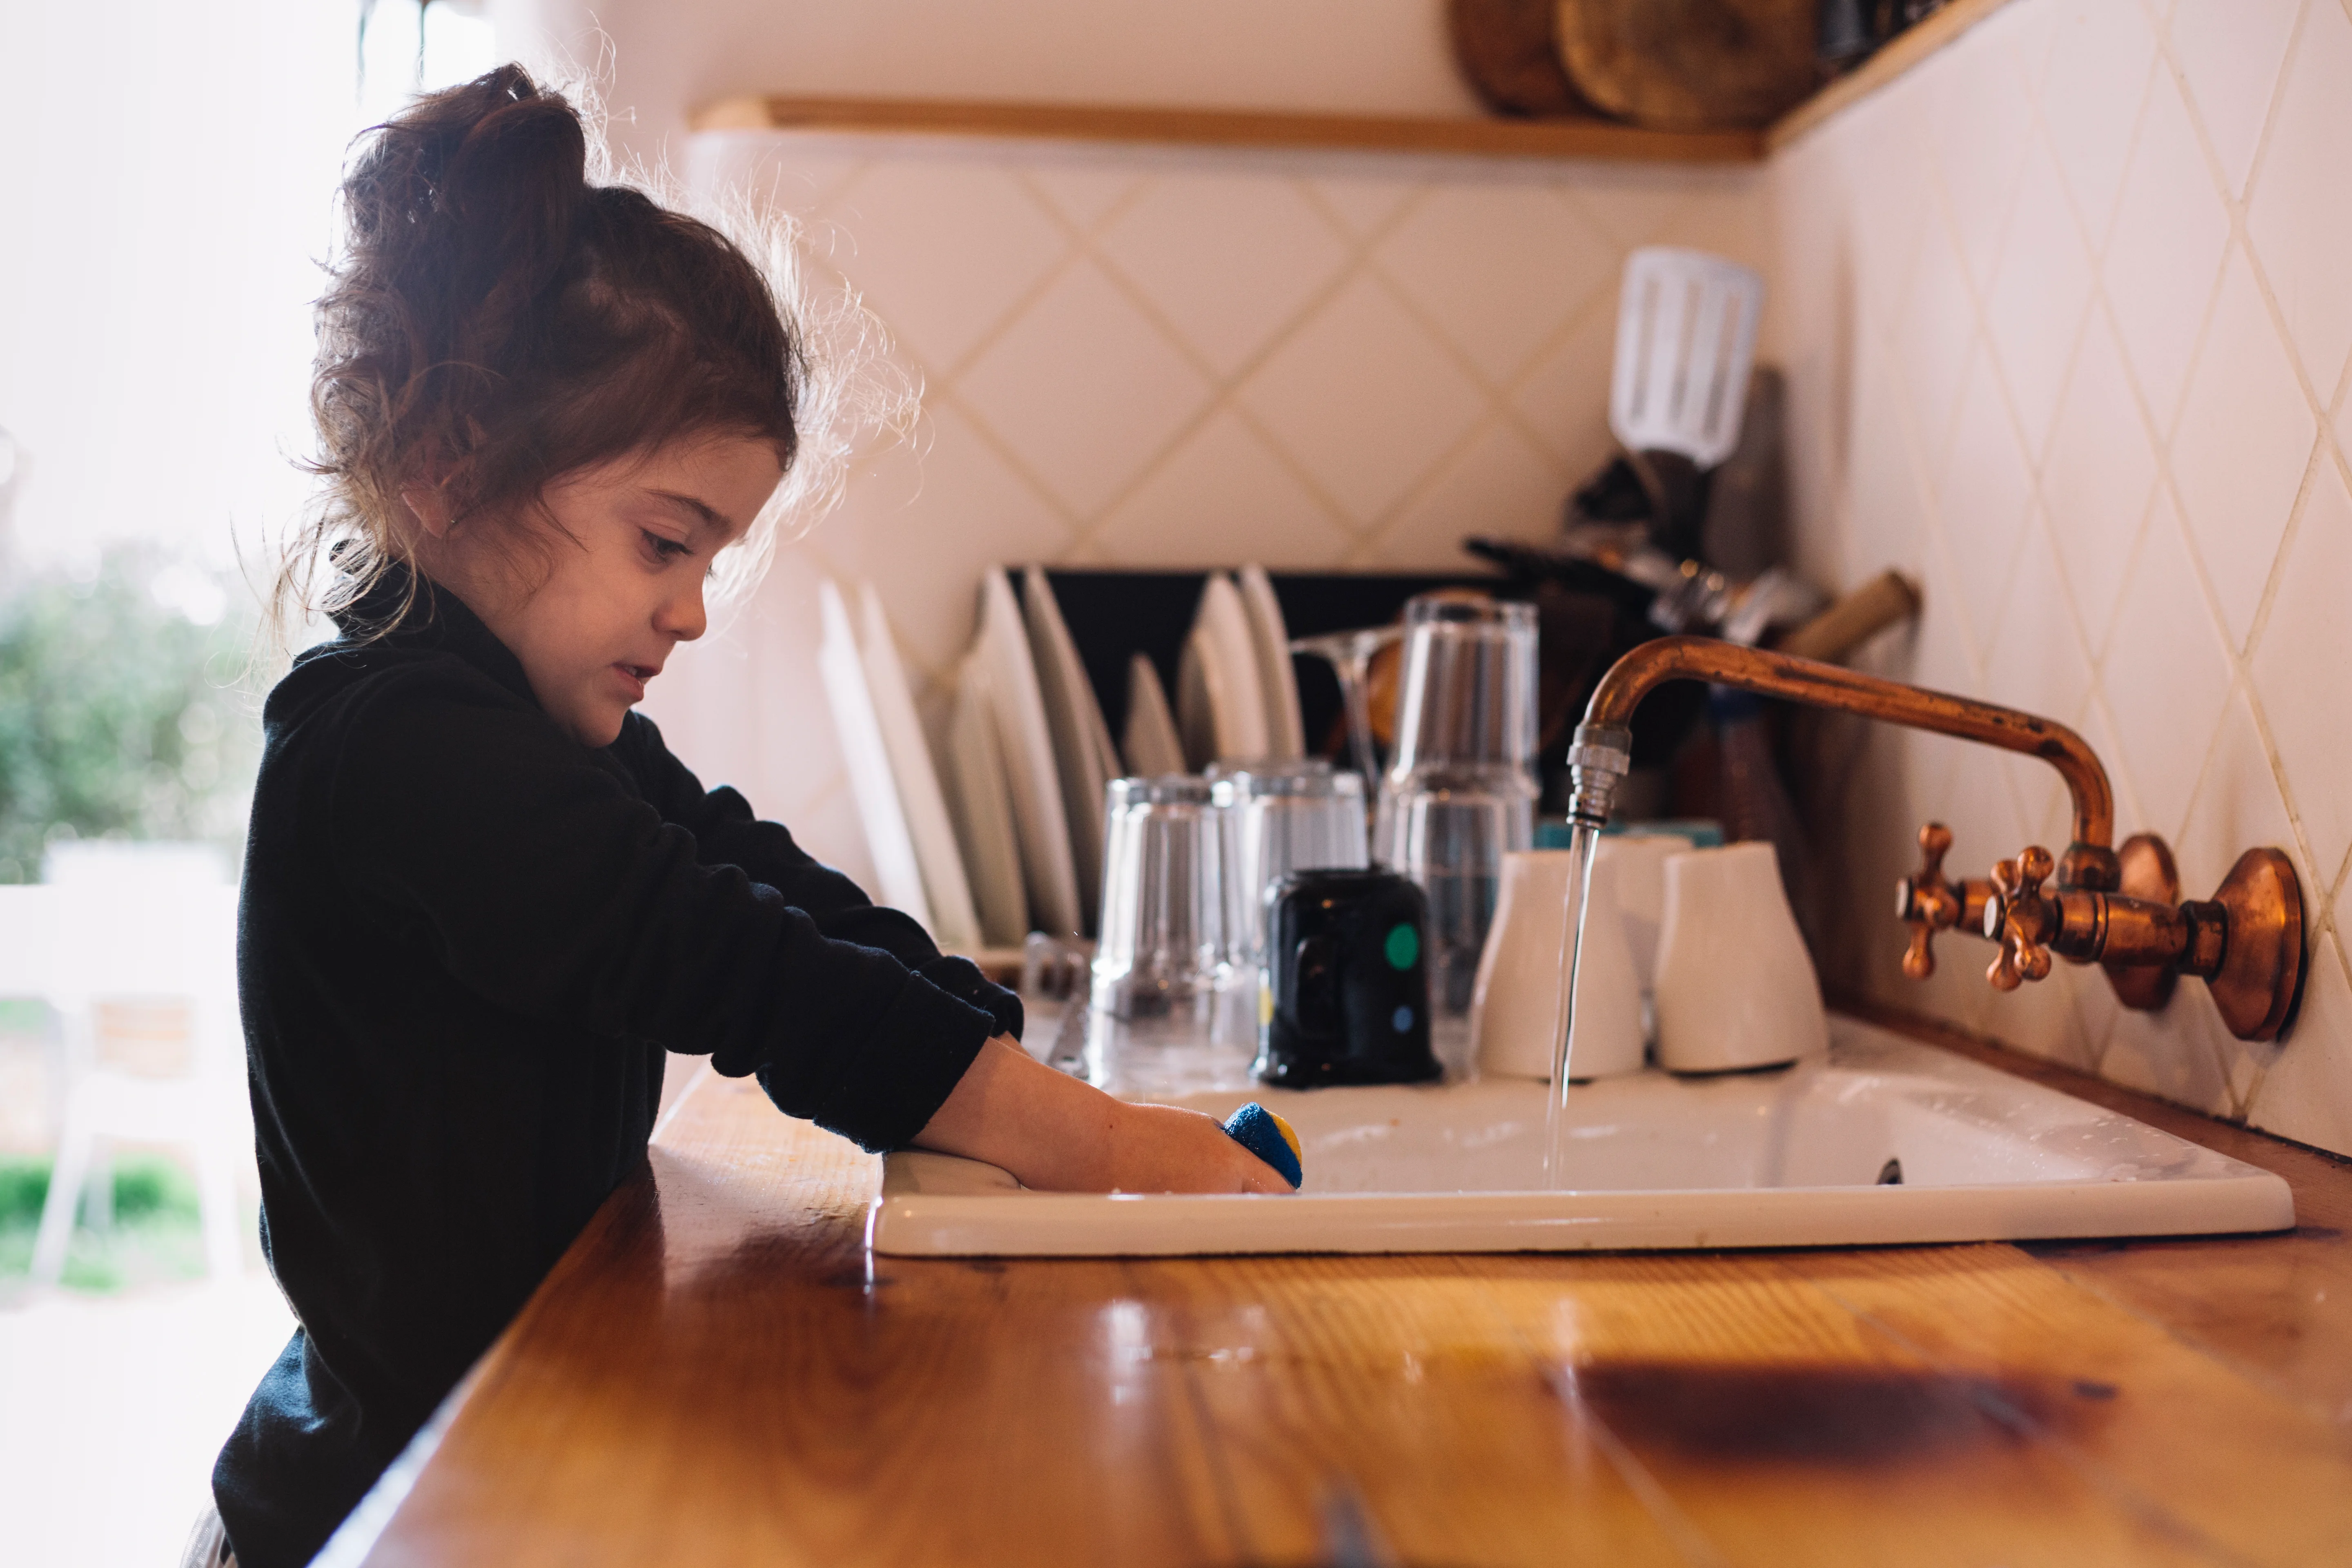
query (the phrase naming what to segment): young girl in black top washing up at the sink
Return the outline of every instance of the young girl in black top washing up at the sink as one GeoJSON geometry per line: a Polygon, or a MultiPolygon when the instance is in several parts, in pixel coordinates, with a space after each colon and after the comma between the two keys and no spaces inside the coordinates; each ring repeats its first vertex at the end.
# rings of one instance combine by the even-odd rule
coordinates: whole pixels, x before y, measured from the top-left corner
{"type": "Polygon", "coordinates": [[[1287,1190],[1209,1117],[1030,1060],[1011,992],[633,712],[793,463],[804,357],[734,244],[583,169],[510,66],[343,183],[313,390],[341,637],[263,710],[238,945],[301,1328],[221,1450],[212,1561],[318,1552],[644,1159],[666,1051],[1030,1187],[1287,1190]]]}

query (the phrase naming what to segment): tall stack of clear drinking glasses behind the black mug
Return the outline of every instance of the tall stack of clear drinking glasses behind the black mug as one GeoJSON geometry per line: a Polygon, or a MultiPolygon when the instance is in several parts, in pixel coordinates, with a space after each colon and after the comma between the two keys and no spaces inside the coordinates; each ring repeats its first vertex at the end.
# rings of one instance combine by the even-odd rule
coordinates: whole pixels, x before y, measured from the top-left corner
{"type": "Polygon", "coordinates": [[[1428,893],[1430,992],[1446,1018],[1470,1011],[1503,856],[1534,839],[1534,607],[1411,599],[1374,858],[1428,893]]]}

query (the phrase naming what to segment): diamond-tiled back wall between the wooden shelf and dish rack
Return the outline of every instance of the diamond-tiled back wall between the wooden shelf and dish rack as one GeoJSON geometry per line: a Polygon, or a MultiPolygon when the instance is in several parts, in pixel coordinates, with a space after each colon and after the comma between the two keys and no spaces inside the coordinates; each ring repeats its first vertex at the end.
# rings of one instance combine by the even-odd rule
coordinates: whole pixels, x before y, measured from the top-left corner
{"type": "Polygon", "coordinates": [[[811,284],[922,388],[913,440],[649,703],[861,879],[818,576],[877,585],[936,722],[990,562],[1463,567],[1609,454],[1625,254],[1766,256],[1762,169],[729,132],[687,179],[797,219],[811,284]]]}

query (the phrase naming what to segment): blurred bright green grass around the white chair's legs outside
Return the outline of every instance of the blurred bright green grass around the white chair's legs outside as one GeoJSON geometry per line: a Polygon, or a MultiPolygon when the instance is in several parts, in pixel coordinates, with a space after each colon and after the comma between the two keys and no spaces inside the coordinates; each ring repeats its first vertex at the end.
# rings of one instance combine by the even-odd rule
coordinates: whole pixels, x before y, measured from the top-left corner
{"type": "MultiPolygon", "coordinates": [[[[47,1197],[47,1159],[0,1159],[0,1300],[26,1286],[47,1197]]],[[[61,1284],[71,1291],[127,1291],[202,1274],[195,1180],[165,1157],[118,1159],[113,1225],[92,1229],[85,1215],[75,1215],[61,1284]]]]}

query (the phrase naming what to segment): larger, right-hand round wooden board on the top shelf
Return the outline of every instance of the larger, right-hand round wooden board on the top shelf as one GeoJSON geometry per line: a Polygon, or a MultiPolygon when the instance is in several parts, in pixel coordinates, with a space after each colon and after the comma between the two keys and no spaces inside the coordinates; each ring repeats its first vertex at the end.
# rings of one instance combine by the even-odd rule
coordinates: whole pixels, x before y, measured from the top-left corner
{"type": "Polygon", "coordinates": [[[1813,92],[1816,0],[1559,0],[1576,92],[1670,132],[1762,127],[1813,92]]]}

